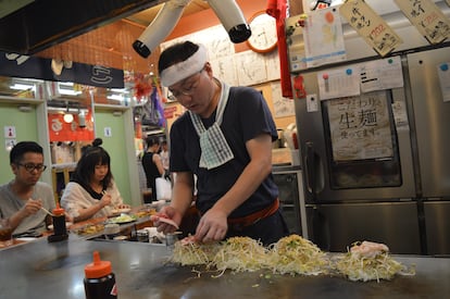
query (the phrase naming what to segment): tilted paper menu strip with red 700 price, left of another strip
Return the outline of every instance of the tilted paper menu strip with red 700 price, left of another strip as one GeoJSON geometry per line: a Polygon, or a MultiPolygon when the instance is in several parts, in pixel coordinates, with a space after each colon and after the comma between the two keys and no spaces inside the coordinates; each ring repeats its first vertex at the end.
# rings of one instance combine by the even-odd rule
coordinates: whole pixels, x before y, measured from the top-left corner
{"type": "Polygon", "coordinates": [[[385,57],[403,42],[363,0],[348,0],[340,5],[339,12],[382,57],[385,57]]]}

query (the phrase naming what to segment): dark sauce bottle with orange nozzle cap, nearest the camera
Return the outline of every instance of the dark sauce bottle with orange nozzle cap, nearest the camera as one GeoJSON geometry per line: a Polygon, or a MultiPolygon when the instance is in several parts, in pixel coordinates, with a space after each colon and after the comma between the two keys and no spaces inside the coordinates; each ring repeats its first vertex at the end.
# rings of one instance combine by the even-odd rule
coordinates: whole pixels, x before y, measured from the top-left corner
{"type": "Polygon", "coordinates": [[[117,298],[111,262],[101,261],[98,251],[93,251],[93,262],[85,266],[85,276],[86,299],[117,298]]]}

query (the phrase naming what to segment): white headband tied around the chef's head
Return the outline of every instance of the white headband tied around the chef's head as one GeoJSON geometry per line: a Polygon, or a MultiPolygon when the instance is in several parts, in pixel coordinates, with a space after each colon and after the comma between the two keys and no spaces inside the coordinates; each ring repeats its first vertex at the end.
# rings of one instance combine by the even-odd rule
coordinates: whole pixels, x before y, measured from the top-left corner
{"type": "Polygon", "coordinates": [[[168,87],[193,75],[201,70],[207,63],[207,48],[204,48],[203,45],[199,45],[199,49],[190,58],[171,65],[161,72],[160,76],[162,85],[168,87]]]}

